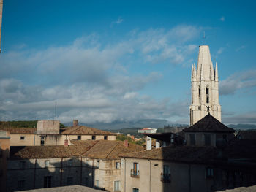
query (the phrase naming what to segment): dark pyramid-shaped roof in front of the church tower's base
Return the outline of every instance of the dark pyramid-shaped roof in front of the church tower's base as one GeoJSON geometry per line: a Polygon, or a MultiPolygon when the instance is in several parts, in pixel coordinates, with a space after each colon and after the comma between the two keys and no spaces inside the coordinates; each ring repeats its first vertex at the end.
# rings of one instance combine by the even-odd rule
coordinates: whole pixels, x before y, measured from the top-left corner
{"type": "Polygon", "coordinates": [[[233,128],[225,126],[210,114],[197,121],[193,126],[184,128],[184,132],[235,132],[233,128]]]}

